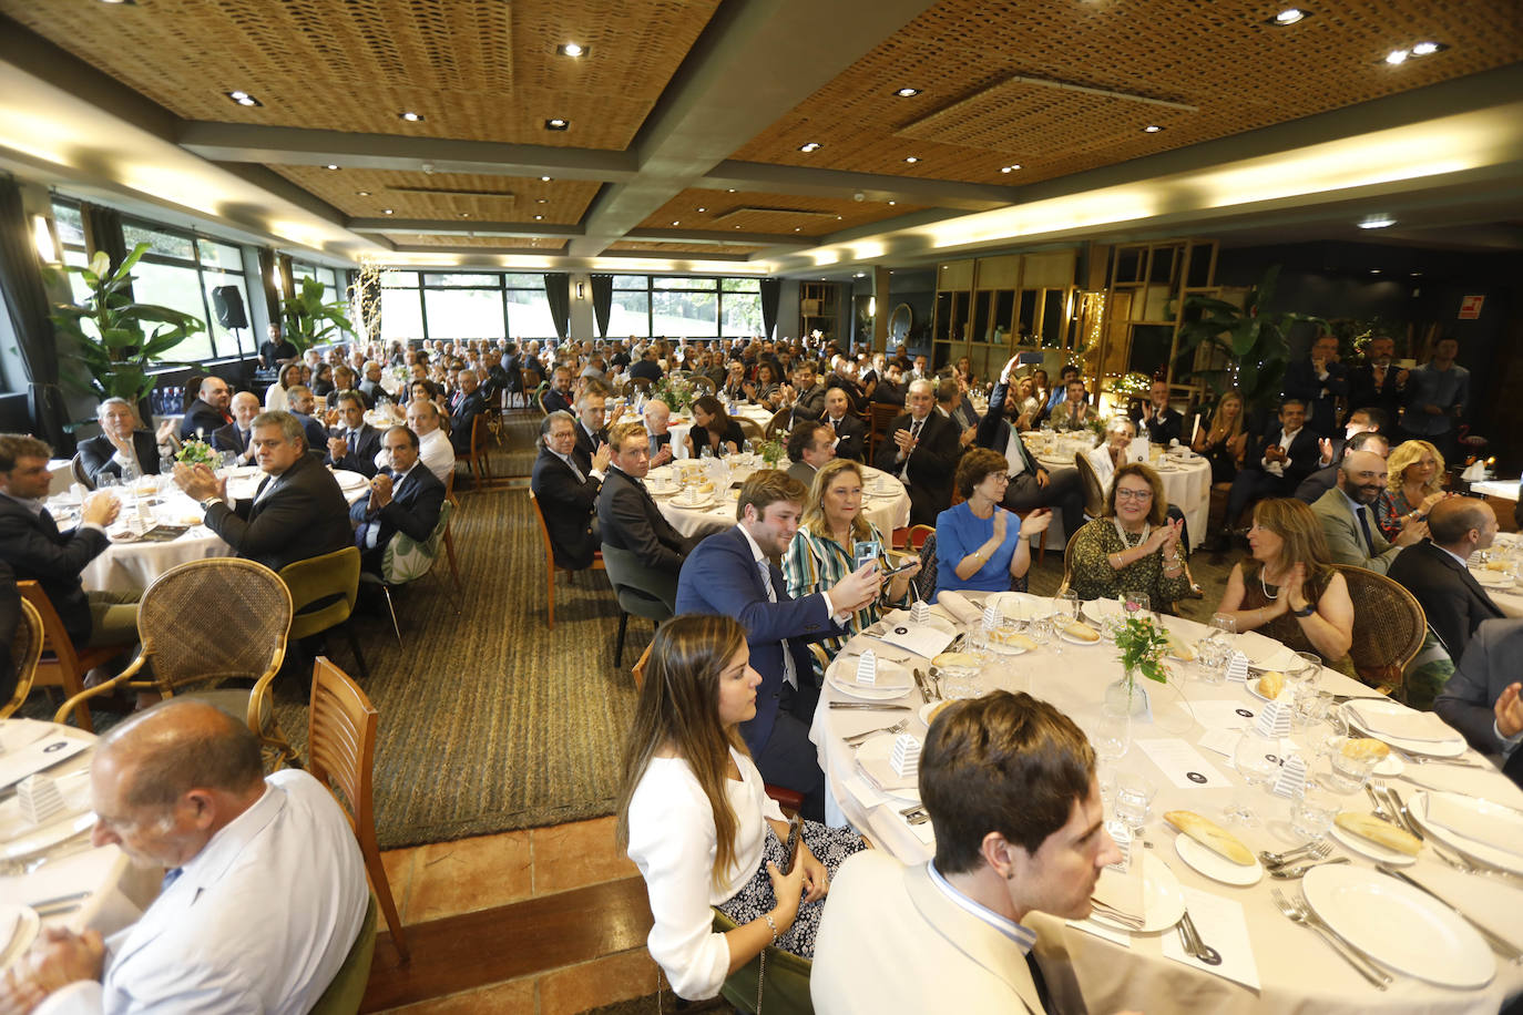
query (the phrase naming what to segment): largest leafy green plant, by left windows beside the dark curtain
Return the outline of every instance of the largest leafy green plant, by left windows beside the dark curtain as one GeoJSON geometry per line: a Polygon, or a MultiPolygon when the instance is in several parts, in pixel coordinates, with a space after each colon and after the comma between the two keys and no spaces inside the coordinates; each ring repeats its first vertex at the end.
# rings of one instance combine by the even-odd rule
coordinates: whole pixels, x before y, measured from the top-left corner
{"type": "Polygon", "coordinates": [[[164,353],[186,338],[206,330],[196,317],[133,300],[133,265],[146,251],[148,243],[139,243],[116,271],[105,251],[96,251],[85,266],[64,265],[65,272],[84,278],[90,295],[79,304],[56,304],[50,317],[53,327],[73,339],[79,362],[90,374],[88,380],[78,376],[70,380],[97,399],[126,399],[137,405],[154,390],[149,368],[164,362],[164,353]]]}

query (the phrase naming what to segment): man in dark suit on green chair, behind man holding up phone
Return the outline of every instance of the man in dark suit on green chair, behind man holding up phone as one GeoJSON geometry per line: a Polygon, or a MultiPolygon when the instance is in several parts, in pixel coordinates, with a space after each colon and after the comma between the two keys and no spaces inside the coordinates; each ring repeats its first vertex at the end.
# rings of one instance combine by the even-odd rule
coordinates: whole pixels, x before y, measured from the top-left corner
{"type": "Polygon", "coordinates": [[[676,577],[698,539],[672,528],[646,490],[650,450],[641,423],[615,426],[606,449],[609,469],[597,493],[599,537],[640,557],[650,590],[676,613],[676,577]]]}

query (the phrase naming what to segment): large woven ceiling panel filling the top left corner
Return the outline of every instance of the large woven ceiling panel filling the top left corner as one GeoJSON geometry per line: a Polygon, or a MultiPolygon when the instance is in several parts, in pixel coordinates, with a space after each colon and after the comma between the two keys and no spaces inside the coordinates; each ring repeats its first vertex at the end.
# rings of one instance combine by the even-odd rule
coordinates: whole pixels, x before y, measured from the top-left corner
{"type": "Polygon", "coordinates": [[[189,120],[623,149],[717,3],[0,0],[0,12],[189,120]],[[567,41],[588,55],[556,55],[567,41]],[[571,128],[547,131],[551,117],[571,128]]]}

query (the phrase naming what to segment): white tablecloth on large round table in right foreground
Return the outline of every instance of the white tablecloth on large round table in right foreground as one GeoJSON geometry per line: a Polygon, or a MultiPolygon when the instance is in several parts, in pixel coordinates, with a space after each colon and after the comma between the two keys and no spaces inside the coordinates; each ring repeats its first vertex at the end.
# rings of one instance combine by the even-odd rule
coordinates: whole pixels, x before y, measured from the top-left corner
{"type": "MultiPolygon", "coordinates": [[[[978,598],[978,597],[975,597],[978,598]]],[[[940,609],[940,607],[937,607],[940,609]]],[[[1186,635],[1191,641],[1205,633],[1206,628],[1191,621],[1168,618],[1168,625],[1186,635]],[[1176,627],[1177,625],[1177,627],[1176,627]]],[[[860,642],[862,639],[854,639],[860,642]]],[[[847,651],[859,648],[848,644],[847,651]]],[[[882,651],[882,645],[876,645],[882,651]]],[[[1005,665],[995,665],[984,670],[981,689],[991,691],[1005,688],[1010,691],[1030,691],[1046,698],[1068,712],[1084,729],[1092,729],[1101,714],[1103,692],[1107,683],[1121,674],[1113,645],[1100,642],[1095,645],[1062,644],[1062,654],[1054,654],[1051,648],[1008,656],[1005,665]]],[[[889,650],[905,654],[899,650],[889,650]]],[[[924,667],[923,660],[912,660],[924,667]]],[[[1206,685],[1194,679],[1194,667],[1173,663],[1186,671],[1189,677],[1182,686],[1185,697],[1193,703],[1212,700],[1234,702],[1249,706],[1256,712],[1261,702],[1253,698],[1243,685],[1206,685]]],[[[1323,670],[1319,686],[1334,694],[1371,694],[1368,688],[1342,677],[1330,670],[1323,670]]],[[[1258,975],[1263,985],[1256,994],[1244,986],[1226,978],[1197,971],[1179,962],[1164,957],[1162,937],[1174,931],[1133,934],[1130,947],[1122,947],[1110,940],[1069,927],[1065,921],[1049,916],[1033,915],[1030,922],[1039,930],[1045,942],[1060,943],[1058,963],[1066,957],[1072,978],[1066,975],[1052,977],[1055,992],[1071,992],[1075,982],[1083,994],[1083,1004],[1092,1012],[1115,1012],[1119,1009],[1139,1009],[1147,1012],[1496,1012],[1500,1000],[1506,995],[1523,991],[1523,966],[1499,962],[1497,977],[1483,991],[1451,991],[1427,986],[1415,978],[1397,975],[1387,992],[1371,988],[1354,969],[1327,948],[1310,931],[1293,925],[1275,907],[1269,890],[1278,886],[1267,877],[1250,887],[1229,887],[1208,880],[1186,866],[1174,852],[1176,832],[1162,822],[1162,813],[1176,808],[1199,811],[1221,822],[1221,807],[1232,799],[1234,790],[1179,790],[1162,775],[1162,772],[1136,746],[1139,738],[1148,737],[1182,737],[1196,744],[1205,727],[1188,714],[1177,711],[1176,695],[1164,689],[1151,691],[1154,709],[1162,715],[1164,709],[1173,712],[1173,727],[1182,732],[1171,733],[1157,729],[1157,724],[1133,723],[1133,746],[1125,758],[1118,762],[1118,770],[1136,770],[1145,773],[1159,787],[1153,800],[1151,817],[1145,828],[1145,838],[1153,842],[1153,854],[1164,860],[1179,877],[1185,889],[1209,892],[1240,902],[1247,921],[1249,937],[1258,963],[1258,975]]],[[[934,855],[934,846],[921,840],[899,811],[903,802],[889,799],[876,805],[864,805],[850,788],[847,779],[856,775],[856,764],[851,750],[842,743],[842,737],[876,729],[892,723],[902,714],[871,712],[871,711],[836,711],[829,709],[832,700],[850,700],[825,685],[821,695],[819,709],[810,729],[810,738],[819,747],[819,764],[825,772],[832,803],[844,813],[853,826],[867,834],[880,849],[886,849],[905,863],[924,863],[934,855]]],[[[897,703],[912,705],[918,709],[920,697],[909,694],[897,703]]],[[[918,720],[911,720],[908,732],[924,737],[926,727],[918,720]]],[[[1229,781],[1237,781],[1229,761],[1218,753],[1199,747],[1202,755],[1223,773],[1229,781]]],[[[1471,753],[1471,758],[1477,755],[1471,753]]],[[[1323,762],[1325,764],[1325,762],[1323,762]]],[[[1415,765],[1407,765],[1407,773],[1413,773],[1415,765]]],[[[1477,772],[1470,768],[1454,768],[1445,765],[1426,765],[1415,778],[1422,779],[1461,779],[1465,788],[1474,788],[1486,797],[1509,807],[1523,807],[1523,793],[1518,793],[1505,776],[1494,772],[1477,772]]],[[[856,779],[853,779],[856,782],[856,779]]],[[[1404,779],[1397,782],[1406,796],[1418,788],[1404,779]]],[[[1453,785],[1447,782],[1445,785],[1453,785]]],[[[1458,788],[1458,787],[1454,787],[1458,788]]],[[[1288,829],[1290,805],[1281,797],[1272,797],[1264,790],[1246,790],[1252,807],[1264,819],[1258,828],[1231,826],[1243,842],[1253,849],[1279,851],[1299,840],[1288,829]]],[[[1359,810],[1365,807],[1365,797],[1349,797],[1349,803],[1359,810]]],[[[835,810],[835,807],[832,810],[835,810]]],[[[929,825],[921,831],[929,829],[929,825]]],[[[929,832],[926,832],[929,838],[929,832]]],[[[1337,854],[1345,851],[1339,849],[1337,854]]],[[[1369,861],[1354,858],[1354,863],[1369,866],[1369,861]]],[[[1439,877],[1450,873],[1438,860],[1426,851],[1418,860],[1416,873],[1427,870],[1439,872],[1439,877]]],[[[1523,893],[1515,887],[1518,883],[1503,883],[1486,880],[1496,884],[1496,893],[1506,893],[1508,899],[1497,902],[1502,908],[1488,913],[1502,928],[1517,928],[1515,907],[1523,902],[1523,893]]],[[[1477,910],[1479,913],[1480,910],[1477,910]]],[[[1401,928],[1392,928],[1400,933],[1401,928]]],[[[1202,930],[1202,936],[1206,936],[1202,930]]],[[[1523,934],[1514,933],[1523,939],[1523,934]]],[[[1209,939],[1208,939],[1209,943],[1209,939]]],[[[1517,942],[1523,945],[1523,940],[1517,942]]],[[[1043,947],[1043,956],[1046,950],[1043,947]]],[[[1062,972],[1062,969],[1060,969],[1062,972]]]]}

